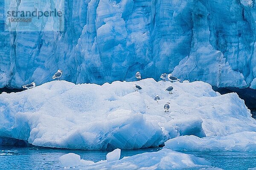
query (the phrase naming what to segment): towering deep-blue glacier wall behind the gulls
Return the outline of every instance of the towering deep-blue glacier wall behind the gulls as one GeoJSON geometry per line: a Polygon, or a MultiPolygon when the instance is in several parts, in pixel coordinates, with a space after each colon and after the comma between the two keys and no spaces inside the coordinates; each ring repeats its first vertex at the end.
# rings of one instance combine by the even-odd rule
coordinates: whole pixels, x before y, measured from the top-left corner
{"type": "Polygon", "coordinates": [[[66,0],[60,32],[6,32],[0,15],[0,87],[42,84],[57,69],[74,83],[130,81],[140,71],[143,78],[173,72],[218,87],[249,87],[256,77],[255,3],[66,0]]]}

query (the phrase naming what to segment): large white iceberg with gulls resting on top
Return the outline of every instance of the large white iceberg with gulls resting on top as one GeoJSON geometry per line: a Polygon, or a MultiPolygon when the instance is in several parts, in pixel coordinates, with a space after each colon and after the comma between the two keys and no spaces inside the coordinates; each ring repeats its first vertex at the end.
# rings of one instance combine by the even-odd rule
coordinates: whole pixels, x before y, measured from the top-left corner
{"type": "Polygon", "coordinates": [[[204,82],[134,82],[75,85],[52,81],[0,94],[0,136],[70,149],[156,147],[177,136],[227,136],[256,131],[244,101],[220,95],[204,82]],[[173,86],[173,94],[165,91],[173,86]],[[154,96],[161,100],[156,102],[154,96]],[[170,112],[163,105],[170,103],[170,112]]]}

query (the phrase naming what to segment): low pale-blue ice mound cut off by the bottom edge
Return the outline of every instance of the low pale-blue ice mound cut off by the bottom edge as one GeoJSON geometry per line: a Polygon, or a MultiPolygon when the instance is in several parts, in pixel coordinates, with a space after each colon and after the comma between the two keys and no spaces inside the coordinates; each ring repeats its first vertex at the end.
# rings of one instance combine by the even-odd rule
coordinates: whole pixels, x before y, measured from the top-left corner
{"type": "MultiPolygon", "coordinates": [[[[69,157],[69,154],[62,157],[69,157]]],[[[69,160],[67,162],[63,161],[62,157],[60,158],[62,167],[71,167],[74,165],[69,160]]],[[[73,156],[70,159],[73,159],[73,156]]],[[[91,165],[86,163],[81,164],[79,160],[75,162],[76,166],[82,170],[174,170],[183,168],[200,169],[210,166],[210,163],[205,159],[178,153],[169,149],[124,157],[118,161],[99,161],[91,165]]]]}

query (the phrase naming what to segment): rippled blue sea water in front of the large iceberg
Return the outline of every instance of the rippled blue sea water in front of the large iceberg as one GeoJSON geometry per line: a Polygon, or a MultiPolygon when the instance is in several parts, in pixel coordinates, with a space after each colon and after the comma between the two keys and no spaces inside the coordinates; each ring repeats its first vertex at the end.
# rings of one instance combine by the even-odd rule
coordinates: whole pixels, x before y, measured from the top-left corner
{"type": "MultiPolygon", "coordinates": [[[[154,152],[161,148],[140,150],[122,150],[123,156],[132,156],[144,152],[154,152]]],[[[66,153],[76,153],[81,159],[100,161],[105,160],[107,150],[64,150],[37,147],[1,147],[0,169],[3,170],[50,170],[60,169],[58,158],[66,153]]],[[[247,170],[256,167],[256,152],[188,152],[212,163],[213,167],[224,170],[247,170]]]]}

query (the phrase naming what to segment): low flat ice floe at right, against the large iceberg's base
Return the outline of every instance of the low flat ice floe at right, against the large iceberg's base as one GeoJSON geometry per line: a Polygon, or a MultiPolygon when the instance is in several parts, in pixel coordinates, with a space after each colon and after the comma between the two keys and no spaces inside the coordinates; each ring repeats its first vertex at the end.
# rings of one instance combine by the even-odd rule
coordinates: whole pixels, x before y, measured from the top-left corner
{"type": "Polygon", "coordinates": [[[228,136],[198,138],[180,136],[169,139],[165,147],[189,151],[256,151],[256,132],[241,132],[228,136]]]}

